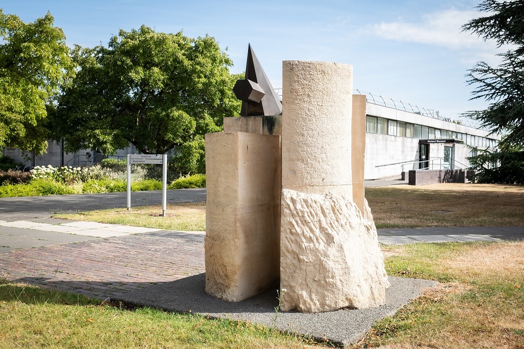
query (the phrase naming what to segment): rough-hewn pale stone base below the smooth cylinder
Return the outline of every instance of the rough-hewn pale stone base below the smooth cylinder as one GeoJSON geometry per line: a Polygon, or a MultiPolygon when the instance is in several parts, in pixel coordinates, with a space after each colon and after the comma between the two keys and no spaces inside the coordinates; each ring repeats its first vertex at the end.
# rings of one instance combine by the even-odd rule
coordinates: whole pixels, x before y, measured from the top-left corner
{"type": "Polygon", "coordinates": [[[282,311],[384,305],[389,286],[373,216],[342,196],[282,190],[282,311]]]}

